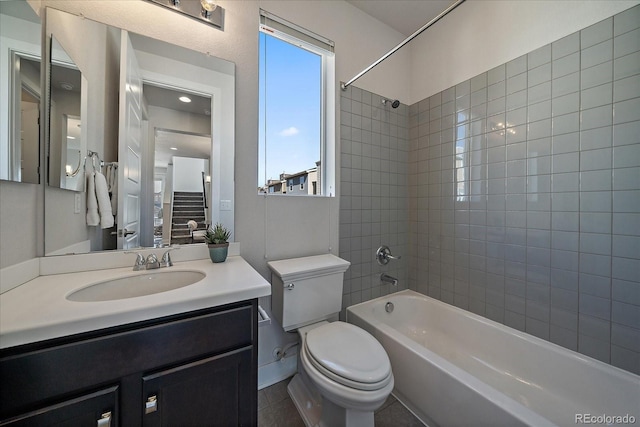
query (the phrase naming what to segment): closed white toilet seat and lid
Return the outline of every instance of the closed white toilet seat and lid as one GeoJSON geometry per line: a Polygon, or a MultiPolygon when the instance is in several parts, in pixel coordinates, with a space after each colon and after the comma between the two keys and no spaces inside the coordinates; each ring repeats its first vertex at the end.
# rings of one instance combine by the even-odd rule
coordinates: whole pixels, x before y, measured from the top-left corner
{"type": "Polygon", "coordinates": [[[357,326],[333,322],[307,332],[302,351],[327,378],[356,390],[373,391],[393,381],[382,345],[357,326]]]}

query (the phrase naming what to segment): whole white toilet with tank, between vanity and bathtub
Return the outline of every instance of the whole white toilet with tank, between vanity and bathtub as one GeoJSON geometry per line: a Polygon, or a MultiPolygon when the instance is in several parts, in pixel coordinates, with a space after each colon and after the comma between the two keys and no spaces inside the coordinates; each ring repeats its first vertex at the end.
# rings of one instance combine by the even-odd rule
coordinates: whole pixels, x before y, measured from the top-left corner
{"type": "Polygon", "coordinates": [[[318,255],[268,263],[272,311],[298,330],[298,373],[289,395],[307,426],[373,426],[373,412],[393,390],[389,357],[368,332],[336,319],[350,263],[318,255]]]}

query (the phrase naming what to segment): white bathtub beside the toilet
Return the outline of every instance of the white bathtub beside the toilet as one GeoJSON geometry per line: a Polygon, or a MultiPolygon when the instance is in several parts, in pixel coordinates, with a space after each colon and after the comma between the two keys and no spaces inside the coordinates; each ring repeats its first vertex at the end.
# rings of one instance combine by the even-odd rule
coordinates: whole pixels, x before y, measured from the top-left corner
{"type": "Polygon", "coordinates": [[[380,341],[393,394],[428,426],[640,424],[640,376],[417,292],[351,306],[347,321],[380,341]]]}

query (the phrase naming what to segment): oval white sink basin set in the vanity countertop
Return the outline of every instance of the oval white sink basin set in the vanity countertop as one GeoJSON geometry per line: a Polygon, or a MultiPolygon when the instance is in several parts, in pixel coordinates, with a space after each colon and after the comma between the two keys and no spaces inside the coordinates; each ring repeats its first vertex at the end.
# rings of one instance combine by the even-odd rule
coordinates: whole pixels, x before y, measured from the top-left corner
{"type": "Polygon", "coordinates": [[[69,294],[69,301],[97,302],[141,297],[192,285],[204,279],[200,271],[157,271],[105,280],[69,294]]]}

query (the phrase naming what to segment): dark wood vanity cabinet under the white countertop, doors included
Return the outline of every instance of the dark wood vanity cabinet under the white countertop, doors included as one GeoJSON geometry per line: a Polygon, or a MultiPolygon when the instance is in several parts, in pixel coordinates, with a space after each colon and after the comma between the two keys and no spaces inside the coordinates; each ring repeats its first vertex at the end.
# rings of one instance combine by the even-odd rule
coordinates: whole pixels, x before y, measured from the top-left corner
{"type": "Polygon", "coordinates": [[[0,351],[0,426],[254,426],[257,301],[0,351]]]}

